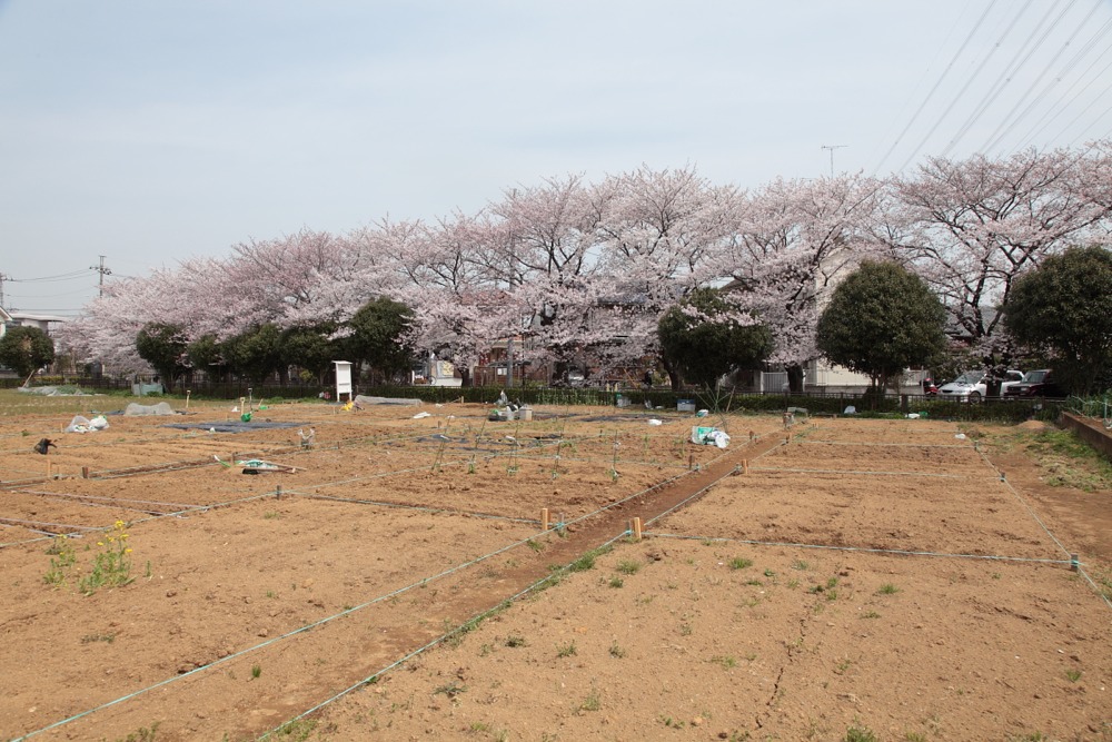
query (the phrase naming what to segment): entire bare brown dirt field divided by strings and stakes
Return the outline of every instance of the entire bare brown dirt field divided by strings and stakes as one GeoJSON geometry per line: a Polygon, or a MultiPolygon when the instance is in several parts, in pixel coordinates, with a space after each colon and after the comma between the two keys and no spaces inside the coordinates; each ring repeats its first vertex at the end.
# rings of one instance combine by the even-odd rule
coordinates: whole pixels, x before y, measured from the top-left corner
{"type": "Polygon", "coordinates": [[[288,404],[224,433],[195,403],[60,432],[125,403],[0,416],[2,739],[1112,740],[1110,493],[1006,428],[288,404]]]}

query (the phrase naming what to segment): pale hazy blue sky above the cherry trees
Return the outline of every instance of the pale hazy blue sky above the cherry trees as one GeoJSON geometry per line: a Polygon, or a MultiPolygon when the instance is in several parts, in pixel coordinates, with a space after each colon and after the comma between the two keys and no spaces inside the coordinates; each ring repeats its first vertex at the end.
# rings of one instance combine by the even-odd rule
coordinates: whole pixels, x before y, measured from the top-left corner
{"type": "Polygon", "coordinates": [[[0,0],[0,306],[568,174],[1083,148],[1110,31],[1112,0],[0,0]]]}

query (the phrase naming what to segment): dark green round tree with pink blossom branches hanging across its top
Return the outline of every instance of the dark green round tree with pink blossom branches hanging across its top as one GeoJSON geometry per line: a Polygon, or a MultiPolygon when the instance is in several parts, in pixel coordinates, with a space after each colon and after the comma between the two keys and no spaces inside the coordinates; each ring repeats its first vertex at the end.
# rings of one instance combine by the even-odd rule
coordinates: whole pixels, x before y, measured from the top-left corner
{"type": "Polygon", "coordinates": [[[714,288],[692,291],[657,324],[667,366],[713,389],[724,375],[757,367],[772,350],[772,333],[714,288]]]}

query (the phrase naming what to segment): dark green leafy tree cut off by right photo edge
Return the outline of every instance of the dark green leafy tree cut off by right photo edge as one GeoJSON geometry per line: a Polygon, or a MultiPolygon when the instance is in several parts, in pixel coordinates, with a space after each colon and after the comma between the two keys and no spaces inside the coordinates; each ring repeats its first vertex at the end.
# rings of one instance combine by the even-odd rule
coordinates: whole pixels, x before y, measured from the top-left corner
{"type": "Polygon", "coordinates": [[[1074,392],[1089,394],[1112,366],[1112,251],[1073,247],[1015,279],[1004,327],[1042,349],[1074,392]]]}

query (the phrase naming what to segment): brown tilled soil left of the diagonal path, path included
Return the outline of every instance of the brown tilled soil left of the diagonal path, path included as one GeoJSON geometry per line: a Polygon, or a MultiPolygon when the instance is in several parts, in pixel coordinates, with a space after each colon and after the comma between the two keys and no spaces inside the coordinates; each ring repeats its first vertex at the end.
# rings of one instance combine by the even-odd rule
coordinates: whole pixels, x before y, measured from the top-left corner
{"type": "Polygon", "coordinates": [[[286,405],[252,422],[291,427],[237,434],[219,408],[86,434],[7,419],[0,736],[251,739],[574,560],[584,516],[725,453],[688,443],[691,416],[429,407],[286,405]],[[88,590],[125,533],[131,581],[88,590]]]}

